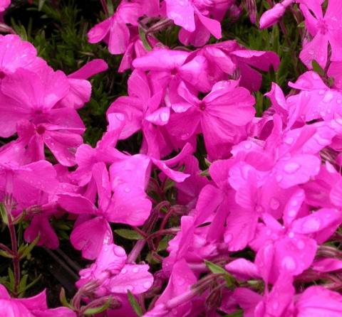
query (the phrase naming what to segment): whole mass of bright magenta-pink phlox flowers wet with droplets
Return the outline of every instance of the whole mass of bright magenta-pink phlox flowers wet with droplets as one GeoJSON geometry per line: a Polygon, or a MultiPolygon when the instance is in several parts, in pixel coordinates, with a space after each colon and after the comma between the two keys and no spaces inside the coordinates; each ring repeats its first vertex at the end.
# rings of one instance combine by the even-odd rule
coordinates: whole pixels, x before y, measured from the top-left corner
{"type": "Polygon", "coordinates": [[[261,16],[260,28],[286,8],[302,16],[307,71],[288,95],[273,82],[260,117],[255,92],[278,55],[209,43],[222,38],[224,17],[239,17],[238,2],[122,0],[90,29],[88,41],[123,54],[118,70],[130,70],[95,148],[83,143],[78,109],[105,61],[66,75],[19,36],[1,36],[7,225],[24,219],[26,242],[56,249],[51,220],[67,216],[71,244],[93,261],[79,272],[75,305],[48,310],[45,293],[11,299],[1,286],[1,312],[83,316],[80,301],[109,299],[98,316],[342,315],[342,2],[284,0],[261,16]],[[172,25],[194,50],[160,43],[155,33],[172,25]],[[137,134],[138,154],[117,148],[137,134]],[[118,245],[113,224],[138,232],[133,249],[118,245]]]}

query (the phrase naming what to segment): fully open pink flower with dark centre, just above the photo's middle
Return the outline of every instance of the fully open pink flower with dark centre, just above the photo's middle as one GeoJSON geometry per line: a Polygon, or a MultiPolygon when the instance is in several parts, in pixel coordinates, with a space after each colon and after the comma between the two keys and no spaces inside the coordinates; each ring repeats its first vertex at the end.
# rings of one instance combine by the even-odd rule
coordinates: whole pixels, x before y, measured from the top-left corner
{"type": "Polygon", "coordinates": [[[202,131],[209,157],[229,156],[230,147],[245,135],[245,127],[255,113],[254,97],[237,84],[217,82],[212,92],[199,100],[181,83],[178,94],[183,102],[172,104],[176,113],[171,115],[167,125],[170,134],[187,140],[202,131]]]}

